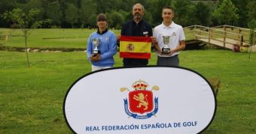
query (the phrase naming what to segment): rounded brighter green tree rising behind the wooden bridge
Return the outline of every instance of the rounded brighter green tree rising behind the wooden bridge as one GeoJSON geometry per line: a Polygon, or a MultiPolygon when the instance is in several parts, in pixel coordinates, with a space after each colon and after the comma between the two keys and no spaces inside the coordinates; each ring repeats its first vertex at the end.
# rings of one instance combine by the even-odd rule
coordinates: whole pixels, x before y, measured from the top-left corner
{"type": "Polygon", "coordinates": [[[224,0],[214,11],[213,16],[226,25],[233,25],[239,19],[237,8],[231,0],[224,0]]]}

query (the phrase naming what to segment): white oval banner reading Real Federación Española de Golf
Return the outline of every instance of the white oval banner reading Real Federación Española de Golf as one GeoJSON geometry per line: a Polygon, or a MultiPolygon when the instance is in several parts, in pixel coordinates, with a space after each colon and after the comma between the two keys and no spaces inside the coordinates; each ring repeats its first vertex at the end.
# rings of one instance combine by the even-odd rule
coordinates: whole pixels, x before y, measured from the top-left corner
{"type": "Polygon", "coordinates": [[[75,133],[201,133],[215,116],[216,100],[209,82],[193,70],[119,67],[78,79],[63,110],[75,133]]]}

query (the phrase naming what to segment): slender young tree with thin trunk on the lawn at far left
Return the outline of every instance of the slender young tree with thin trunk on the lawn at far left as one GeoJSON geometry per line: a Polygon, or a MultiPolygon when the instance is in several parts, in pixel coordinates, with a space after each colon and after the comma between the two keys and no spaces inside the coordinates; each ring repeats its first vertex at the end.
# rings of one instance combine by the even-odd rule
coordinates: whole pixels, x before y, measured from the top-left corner
{"type": "Polygon", "coordinates": [[[40,13],[38,8],[33,8],[29,12],[25,12],[20,8],[15,8],[10,12],[5,12],[4,19],[10,19],[12,22],[17,23],[21,30],[23,31],[25,38],[25,49],[26,49],[26,59],[28,67],[29,65],[29,54],[27,49],[27,40],[29,34],[31,34],[32,28],[38,28],[41,25],[41,21],[37,20],[37,16],[40,13]]]}

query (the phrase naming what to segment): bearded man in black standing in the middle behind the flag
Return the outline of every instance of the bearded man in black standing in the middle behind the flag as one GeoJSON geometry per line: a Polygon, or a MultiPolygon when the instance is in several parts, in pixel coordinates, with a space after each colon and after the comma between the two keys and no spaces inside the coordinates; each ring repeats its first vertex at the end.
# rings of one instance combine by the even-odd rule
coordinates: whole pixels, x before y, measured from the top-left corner
{"type": "MultiPolygon", "coordinates": [[[[152,42],[156,42],[156,39],[152,37],[151,25],[142,19],[144,11],[142,4],[133,5],[133,19],[123,24],[121,36],[151,37],[152,42]]],[[[120,41],[120,35],[117,36],[117,40],[120,41]]],[[[148,59],[145,58],[123,58],[123,67],[146,66],[147,64],[148,59]]]]}

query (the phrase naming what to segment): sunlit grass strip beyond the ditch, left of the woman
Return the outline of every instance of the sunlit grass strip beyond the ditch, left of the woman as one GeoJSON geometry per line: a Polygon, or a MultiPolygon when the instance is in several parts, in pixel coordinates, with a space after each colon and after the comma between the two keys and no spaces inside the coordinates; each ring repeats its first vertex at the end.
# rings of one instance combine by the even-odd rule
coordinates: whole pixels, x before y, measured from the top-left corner
{"type": "MultiPolygon", "coordinates": [[[[28,47],[86,48],[87,38],[93,31],[96,29],[34,29],[29,35],[28,47]]],[[[0,40],[5,46],[25,47],[20,29],[0,28],[0,33],[8,35],[7,41],[0,40]]],[[[120,31],[114,30],[114,33],[119,34],[120,31]]]]}

